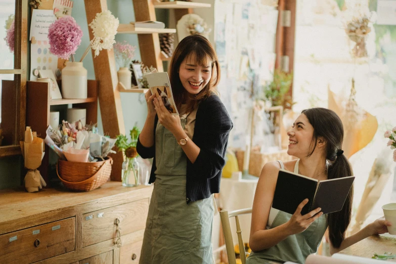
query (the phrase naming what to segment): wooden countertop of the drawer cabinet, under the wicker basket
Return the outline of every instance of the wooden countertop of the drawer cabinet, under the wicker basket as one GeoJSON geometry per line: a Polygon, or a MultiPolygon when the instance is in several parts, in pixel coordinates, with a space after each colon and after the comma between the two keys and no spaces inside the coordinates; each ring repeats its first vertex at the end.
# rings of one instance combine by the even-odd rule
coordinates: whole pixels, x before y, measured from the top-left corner
{"type": "Polygon", "coordinates": [[[0,190],[0,235],[58,221],[77,213],[86,213],[150,197],[153,186],[123,187],[121,182],[107,182],[90,192],[64,188],[44,188],[27,193],[22,188],[0,190]],[[80,206],[79,206],[80,205],[80,206]]]}

